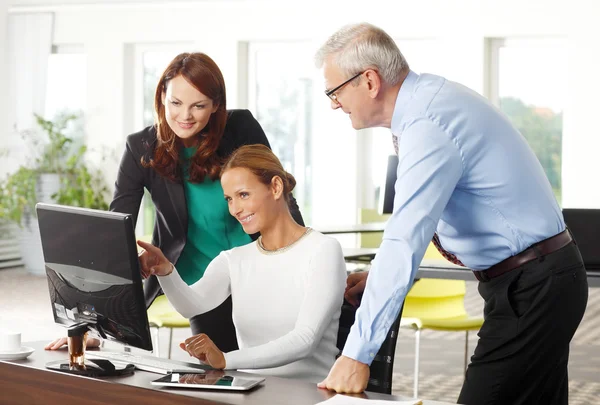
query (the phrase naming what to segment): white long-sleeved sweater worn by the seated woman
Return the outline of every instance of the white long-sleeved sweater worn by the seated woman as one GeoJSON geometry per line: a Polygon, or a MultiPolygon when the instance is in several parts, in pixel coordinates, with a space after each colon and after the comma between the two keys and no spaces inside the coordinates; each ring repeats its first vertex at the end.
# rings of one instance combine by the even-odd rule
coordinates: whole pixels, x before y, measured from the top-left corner
{"type": "Polygon", "coordinates": [[[231,294],[240,349],[225,354],[227,369],[318,382],[335,361],[346,268],[331,237],[313,230],[283,252],[256,242],[222,252],[192,286],[177,271],[158,279],[187,318],[231,294]]]}

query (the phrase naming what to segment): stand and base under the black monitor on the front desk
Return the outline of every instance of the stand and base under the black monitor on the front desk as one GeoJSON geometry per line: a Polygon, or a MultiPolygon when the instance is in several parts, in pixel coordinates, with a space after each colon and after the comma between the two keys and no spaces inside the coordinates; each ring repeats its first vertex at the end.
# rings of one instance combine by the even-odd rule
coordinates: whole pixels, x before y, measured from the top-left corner
{"type": "MultiPolygon", "coordinates": [[[[96,325],[99,326],[99,325],[96,325]]],[[[85,342],[89,327],[85,323],[76,324],[69,328],[69,339],[82,342],[81,356],[74,361],[73,356],[69,353],[69,359],[55,360],[46,363],[46,368],[63,373],[83,375],[87,377],[110,377],[131,374],[135,370],[133,364],[113,363],[104,359],[85,359],[85,342]]],[[[99,330],[102,330],[99,328],[99,330]]]]}

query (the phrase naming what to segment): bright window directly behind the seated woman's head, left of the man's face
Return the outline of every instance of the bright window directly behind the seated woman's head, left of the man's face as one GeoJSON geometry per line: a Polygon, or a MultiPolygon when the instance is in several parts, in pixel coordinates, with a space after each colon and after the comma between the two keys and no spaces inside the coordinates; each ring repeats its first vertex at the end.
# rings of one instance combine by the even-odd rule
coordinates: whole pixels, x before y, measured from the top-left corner
{"type": "Polygon", "coordinates": [[[300,45],[250,47],[251,108],[271,148],[296,178],[294,196],[305,222],[312,212],[312,96],[314,66],[300,45]],[[300,48],[300,49],[299,49],[300,48]],[[301,55],[298,55],[298,51],[301,55]],[[299,62],[301,61],[301,62],[299,62]]]}

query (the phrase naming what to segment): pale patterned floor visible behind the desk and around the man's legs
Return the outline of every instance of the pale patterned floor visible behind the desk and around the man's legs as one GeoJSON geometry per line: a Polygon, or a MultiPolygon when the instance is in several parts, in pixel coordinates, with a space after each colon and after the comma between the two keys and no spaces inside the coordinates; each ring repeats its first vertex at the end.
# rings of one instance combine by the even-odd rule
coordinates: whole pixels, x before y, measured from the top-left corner
{"type": "MultiPolygon", "coordinates": [[[[482,302],[474,282],[467,283],[465,305],[470,314],[481,314],[482,302]]],[[[32,276],[22,268],[0,270],[0,329],[5,328],[21,331],[24,341],[63,335],[64,329],[52,320],[45,277],[32,276]]],[[[187,328],[175,330],[174,342],[189,334],[187,328]]],[[[166,353],[167,336],[166,330],[161,331],[161,354],[166,353]]],[[[476,343],[477,336],[471,334],[471,352],[476,343]]],[[[463,350],[463,333],[422,332],[420,396],[456,401],[462,384],[463,350]]],[[[189,359],[175,344],[173,358],[189,359]]],[[[394,363],[394,393],[412,395],[413,362],[412,332],[401,330],[394,363]]],[[[571,405],[600,403],[600,288],[590,289],[588,308],[571,346],[569,377],[571,405]]]]}

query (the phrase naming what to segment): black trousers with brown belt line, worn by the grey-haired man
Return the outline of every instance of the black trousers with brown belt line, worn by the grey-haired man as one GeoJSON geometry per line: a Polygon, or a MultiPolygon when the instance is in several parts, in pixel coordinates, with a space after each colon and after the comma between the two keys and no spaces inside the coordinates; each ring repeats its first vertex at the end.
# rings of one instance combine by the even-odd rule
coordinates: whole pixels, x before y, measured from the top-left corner
{"type": "Polygon", "coordinates": [[[575,243],[479,283],[484,323],[459,404],[568,405],[569,343],[585,312],[575,243]]]}

